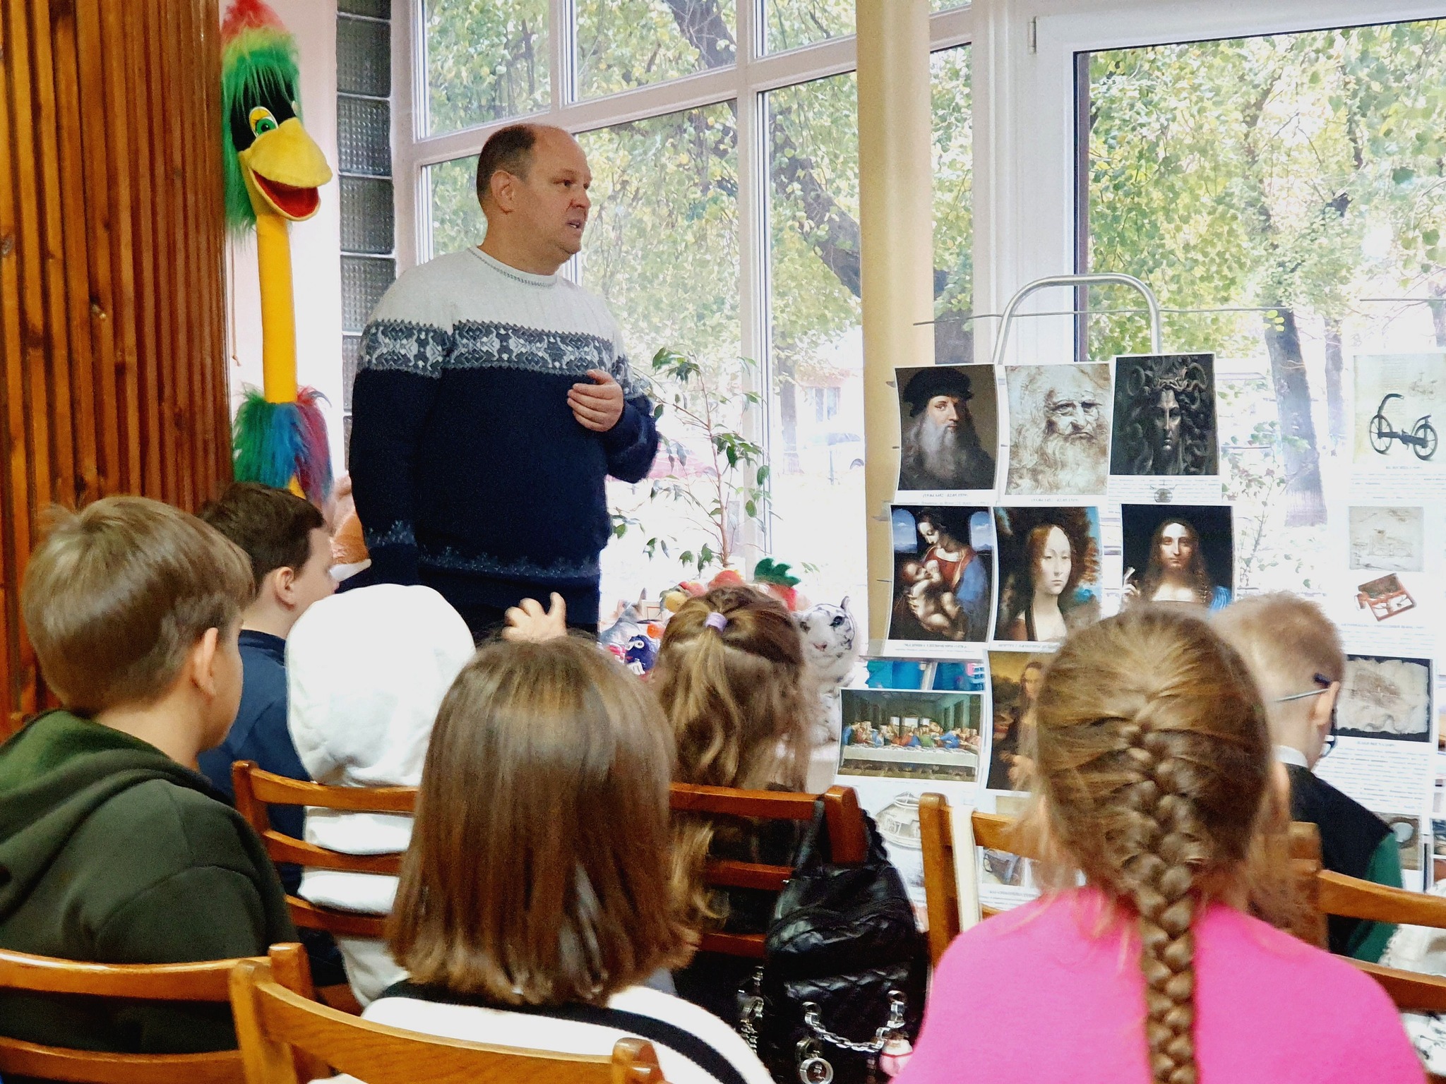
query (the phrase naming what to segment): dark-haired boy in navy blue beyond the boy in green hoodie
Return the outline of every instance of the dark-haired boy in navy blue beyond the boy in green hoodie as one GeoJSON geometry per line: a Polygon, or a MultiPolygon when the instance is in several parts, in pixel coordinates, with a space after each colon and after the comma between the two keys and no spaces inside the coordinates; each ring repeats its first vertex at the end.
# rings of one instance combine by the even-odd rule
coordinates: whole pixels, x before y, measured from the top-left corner
{"type": "MultiPolygon", "coordinates": [[[[201,772],[234,798],[231,763],[254,760],[288,779],[309,780],[286,731],[286,636],[307,608],[335,590],[331,538],[317,506],[286,490],[241,481],[201,509],[201,519],[239,545],[252,562],[256,597],[241,613],[241,707],[226,740],[201,753],[201,772]]],[[[278,805],[270,825],[301,838],[304,811],[278,805]]],[[[301,870],[281,869],[295,892],[301,870]]]]}

